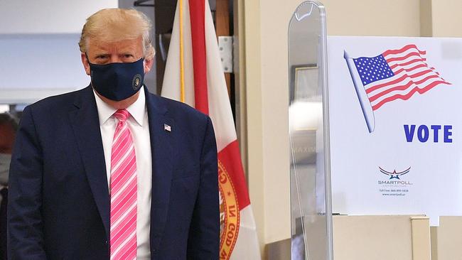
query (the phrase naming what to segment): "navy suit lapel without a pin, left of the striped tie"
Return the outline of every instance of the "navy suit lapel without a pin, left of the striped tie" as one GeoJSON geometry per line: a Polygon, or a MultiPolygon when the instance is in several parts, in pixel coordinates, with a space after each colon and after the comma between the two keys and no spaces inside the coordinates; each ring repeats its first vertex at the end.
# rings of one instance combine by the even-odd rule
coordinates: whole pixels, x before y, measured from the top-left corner
{"type": "Polygon", "coordinates": [[[109,239],[109,188],[107,188],[106,163],[100,131],[100,119],[92,88],[86,87],[74,102],[77,109],[70,112],[77,146],[80,151],[88,183],[100,212],[109,239]]]}

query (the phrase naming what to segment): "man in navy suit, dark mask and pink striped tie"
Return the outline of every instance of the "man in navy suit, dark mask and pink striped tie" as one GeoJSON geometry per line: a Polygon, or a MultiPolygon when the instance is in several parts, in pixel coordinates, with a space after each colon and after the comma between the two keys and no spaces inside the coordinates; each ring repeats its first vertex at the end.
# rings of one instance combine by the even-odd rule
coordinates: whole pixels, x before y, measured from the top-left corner
{"type": "Polygon", "coordinates": [[[218,259],[213,126],[142,85],[150,26],[135,10],[93,14],[79,43],[90,86],[24,109],[10,259],[218,259]]]}

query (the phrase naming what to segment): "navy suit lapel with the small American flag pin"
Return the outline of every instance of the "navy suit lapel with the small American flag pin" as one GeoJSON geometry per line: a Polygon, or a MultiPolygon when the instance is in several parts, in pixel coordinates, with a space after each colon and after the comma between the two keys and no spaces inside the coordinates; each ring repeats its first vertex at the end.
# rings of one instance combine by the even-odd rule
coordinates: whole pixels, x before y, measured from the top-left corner
{"type": "MultiPolygon", "coordinates": [[[[146,88],[146,87],[145,87],[146,88]]],[[[168,215],[172,165],[173,119],[167,116],[167,109],[159,97],[146,90],[146,106],[149,117],[149,134],[152,153],[152,197],[151,197],[151,249],[157,249],[168,215]],[[166,130],[171,127],[171,131],[166,130]]]]}

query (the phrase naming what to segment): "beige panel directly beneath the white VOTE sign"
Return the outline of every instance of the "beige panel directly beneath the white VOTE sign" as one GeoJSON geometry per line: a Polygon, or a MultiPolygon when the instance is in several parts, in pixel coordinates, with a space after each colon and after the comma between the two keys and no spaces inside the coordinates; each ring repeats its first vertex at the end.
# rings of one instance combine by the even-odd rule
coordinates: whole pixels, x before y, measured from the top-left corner
{"type": "Polygon", "coordinates": [[[335,260],[431,259],[429,217],[334,216],[333,231],[335,260]]]}

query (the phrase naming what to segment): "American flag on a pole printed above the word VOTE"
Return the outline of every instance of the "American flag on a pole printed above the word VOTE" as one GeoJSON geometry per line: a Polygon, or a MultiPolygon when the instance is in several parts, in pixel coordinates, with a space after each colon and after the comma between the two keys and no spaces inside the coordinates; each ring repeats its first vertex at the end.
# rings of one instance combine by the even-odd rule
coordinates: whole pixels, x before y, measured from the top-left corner
{"type": "Polygon", "coordinates": [[[406,101],[438,85],[451,85],[426,62],[426,51],[409,44],[397,50],[385,50],[375,57],[343,58],[360,102],[370,133],[375,129],[375,111],[397,99],[406,101]]]}

